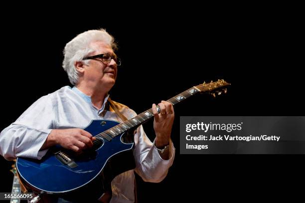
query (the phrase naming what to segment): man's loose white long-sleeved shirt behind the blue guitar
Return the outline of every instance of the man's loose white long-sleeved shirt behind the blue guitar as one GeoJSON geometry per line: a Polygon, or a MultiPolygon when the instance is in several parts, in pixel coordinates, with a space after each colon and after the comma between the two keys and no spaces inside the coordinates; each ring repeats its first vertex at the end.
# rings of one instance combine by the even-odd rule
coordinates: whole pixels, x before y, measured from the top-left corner
{"type": "MultiPolygon", "coordinates": [[[[0,133],[0,154],[7,160],[16,157],[41,159],[48,149],[40,150],[40,148],[52,129],[84,129],[93,119],[122,122],[115,112],[105,110],[108,97],[109,95],[105,98],[101,109],[95,108],[90,96],[85,95],[76,87],[65,86],[39,98],[14,123],[0,133]]],[[[127,106],[122,104],[120,106],[122,107],[120,112],[128,119],[137,115],[127,106]]],[[[170,141],[170,159],[163,160],[141,125],[135,134],[134,154],[135,172],[144,181],[157,183],[167,175],[168,168],[174,159],[175,148],[170,141]]],[[[135,201],[134,170],[114,178],[111,184],[113,192],[111,203],[135,201]]]]}

